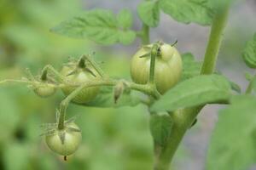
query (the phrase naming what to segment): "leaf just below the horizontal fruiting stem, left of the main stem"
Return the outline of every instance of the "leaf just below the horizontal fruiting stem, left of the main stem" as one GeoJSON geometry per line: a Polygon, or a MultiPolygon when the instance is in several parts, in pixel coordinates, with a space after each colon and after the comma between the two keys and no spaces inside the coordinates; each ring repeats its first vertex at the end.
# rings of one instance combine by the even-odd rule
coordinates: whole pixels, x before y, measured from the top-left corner
{"type": "Polygon", "coordinates": [[[141,100],[139,94],[134,91],[124,91],[118,102],[115,104],[113,99],[113,87],[102,87],[96,98],[84,105],[92,107],[122,107],[136,106],[140,103],[141,100]]]}

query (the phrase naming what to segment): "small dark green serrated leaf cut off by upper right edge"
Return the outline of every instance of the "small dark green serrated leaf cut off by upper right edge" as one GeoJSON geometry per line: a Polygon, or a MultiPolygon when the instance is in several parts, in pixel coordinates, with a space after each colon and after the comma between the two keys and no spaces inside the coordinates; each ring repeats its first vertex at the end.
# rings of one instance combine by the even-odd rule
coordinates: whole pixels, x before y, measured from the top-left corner
{"type": "Polygon", "coordinates": [[[247,42],[247,45],[242,53],[242,58],[248,67],[256,68],[256,33],[253,38],[247,42]]]}

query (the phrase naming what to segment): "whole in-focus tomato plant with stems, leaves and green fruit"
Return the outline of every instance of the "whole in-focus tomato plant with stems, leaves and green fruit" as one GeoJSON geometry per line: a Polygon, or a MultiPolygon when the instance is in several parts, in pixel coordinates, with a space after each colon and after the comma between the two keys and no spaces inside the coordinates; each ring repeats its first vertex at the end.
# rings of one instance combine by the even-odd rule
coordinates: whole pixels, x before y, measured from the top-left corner
{"type": "MultiPolygon", "coordinates": [[[[137,91],[146,95],[146,98],[142,99],[140,96],[136,99],[139,100],[139,104],[148,106],[151,119],[150,131],[154,140],[154,169],[167,170],[184,134],[194,125],[201,109],[213,103],[232,104],[234,96],[230,91],[236,84],[215,74],[218,51],[228,20],[230,1],[220,3],[222,4],[220,9],[208,8],[203,2],[173,2],[175,3],[166,0],[143,1],[138,8],[140,20],[143,22],[139,31],[131,29],[132,17],[129,11],[123,10],[115,17],[112,12],[103,9],[89,11],[84,18],[75,17],[52,29],[68,37],[88,37],[95,42],[107,45],[117,42],[125,45],[131,44],[136,37],[139,37],[142,47],[131,59],[133,82],[109,77],[93,59],[93,54],[83,54],[78,60],[72,60],[63,65],[61,71],[56,70],[52,65],[45,65],[38,77],[34,77],[31,71],[26,70],[26,78],[7,79],[0,82],[0,84],[29,85],[40,97],[54,95],[57,89],[63,92],[65,99],[61,101],[56,111],[56,122],[46,125],[43,133],[50,150],[67,159],[67,156],[79,148],[82,138],[80,129],[74,124],[75,118],[67,120],[66,117],[67,107],[71,102],[78,105],[90,105],[90,102],[102,95],[103,88],[110,87],[111,93],[108,94],[111,95],[111,99],[108,95],[107,100],[111,100],[112,106],[116,106],[125,95],[128,96],[129,101],[135,100],[130,94],[137,91]],[[173,10],[174,7],[175,9],[183,7],[187,13],[173,10]],[[179,54],[177,48],[174,47],[177,42],[168,44],[150,41],[150,29],[158,26],[160,9],[185,24],[195,22],[202,26],[211,25],[202,65],[195,61],[193,56],[191,57],[192,54],[179,54]],[[200,14],[204,17],[198,17],[201,15],[190,13],[191,11],[195,13],[201,11],[200,14]],[[75,26],[84,27],[78,29],[75,26]],[[71,29],[71,31],[66,29],[71,29]],[[81,33],[80,30],[85,31],[81,33]],[[191,68],[188,69],[188,65],[195,66],[196,71],[189,70],[191,68]],[[160,116],[158,114],[160,111],[164,111],[166,115],[160,116]]],[[[254,42],[249,45],[251,44],[254,42]]],[[[247,65],[255,66],[250,55],[245,54],[244,58],[247,59],[247,65]]],[[[253,92],[254,82],[255,77],[251,77],[245,94],[253,92]]],[[[100,104],[96,103],[94,106],[98,105],[100,104]]]]}

